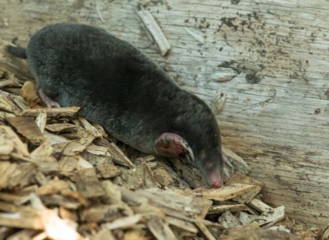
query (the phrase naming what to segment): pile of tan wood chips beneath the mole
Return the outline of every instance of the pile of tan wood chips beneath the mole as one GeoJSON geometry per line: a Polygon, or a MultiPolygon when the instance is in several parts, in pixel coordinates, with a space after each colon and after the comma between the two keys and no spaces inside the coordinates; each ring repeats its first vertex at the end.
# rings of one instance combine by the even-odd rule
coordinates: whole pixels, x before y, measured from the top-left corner
{"type": "Polygon", "coordinates": [[[34,82],[0,71],[0,88],[0,239],[329,235],[262,202],[263,184],[225,147],[225,187],[205,189],[196,169],[118,143],[79,108],[44,108],[34,82]]]}

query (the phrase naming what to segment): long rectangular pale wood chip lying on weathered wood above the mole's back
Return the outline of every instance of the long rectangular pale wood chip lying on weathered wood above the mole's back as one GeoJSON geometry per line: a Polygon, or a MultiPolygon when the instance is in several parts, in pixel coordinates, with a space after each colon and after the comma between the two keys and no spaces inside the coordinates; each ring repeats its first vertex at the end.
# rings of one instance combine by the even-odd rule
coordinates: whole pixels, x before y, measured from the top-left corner
{"type": "Polygon", "coordinates": [[[157,47],[160,50],[161,56],[165,56],[170,50],[170,43],[168,42],[166,36],[163,34],[161,28],[155,18],[148,10],[137,11],[137,16],[139,21],[144,25],[148,34],[155,40],[157,47]]]}

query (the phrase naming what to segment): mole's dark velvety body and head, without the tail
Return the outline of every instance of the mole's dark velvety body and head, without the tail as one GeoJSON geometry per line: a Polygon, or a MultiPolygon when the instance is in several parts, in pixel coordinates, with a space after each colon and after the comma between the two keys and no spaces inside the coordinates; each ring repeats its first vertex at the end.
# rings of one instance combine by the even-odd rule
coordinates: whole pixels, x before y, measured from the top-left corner
{"type": "Polygon", "coordinates": [[[57,23],[36,32],[26,53],[46,98],[80,106],[82,117],[147,154],[181,154],[186,141],[207,182],[221,186],[214,114],[139,49],[98,27],[57,23]]]}

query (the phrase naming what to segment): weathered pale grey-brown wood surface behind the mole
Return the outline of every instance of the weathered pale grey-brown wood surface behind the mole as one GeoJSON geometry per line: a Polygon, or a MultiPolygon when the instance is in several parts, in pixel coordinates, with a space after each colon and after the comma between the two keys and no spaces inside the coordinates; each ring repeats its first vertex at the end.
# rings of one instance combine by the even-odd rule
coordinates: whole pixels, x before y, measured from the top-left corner
{"type": "Polygon", "coordinates": [[[129,0],[1,0],[0,38],[24,47],[47,23],[98,25],[140,47],[210,106],[214,95],[227,94],[218,115],[223,143],[265,183],[265,202],[284,204],[308,224],[328,224],[329,2],[144,3],[172,46],[166,57],[139,24],[137,1],[129,0]],[[217,82],[218,75],[232,79],[217,82]]]}

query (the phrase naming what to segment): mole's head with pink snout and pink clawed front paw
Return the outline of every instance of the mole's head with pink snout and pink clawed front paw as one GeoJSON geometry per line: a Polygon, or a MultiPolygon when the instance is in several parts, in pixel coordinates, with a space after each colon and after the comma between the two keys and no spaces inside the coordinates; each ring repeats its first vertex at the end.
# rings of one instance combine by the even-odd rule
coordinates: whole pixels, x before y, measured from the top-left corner
{"type": "Polygon", "coordinates": [[[222,187],[223,156],[216,118],[207,104],[195,96],[186,105],[190,105],[187,111],[172,123],[177,131],[161,134],[155,148],[162,154],[187,155],[190,164],[201,170],[209,185],[222,187]]]}

